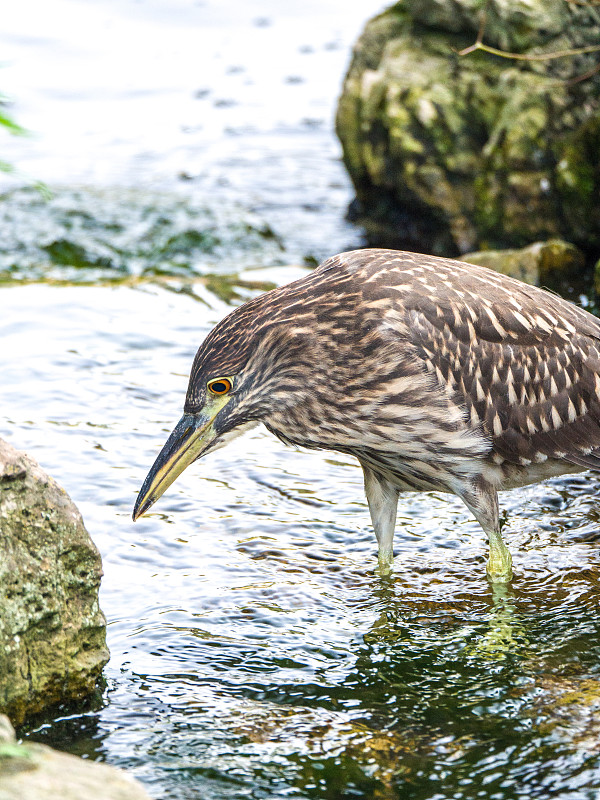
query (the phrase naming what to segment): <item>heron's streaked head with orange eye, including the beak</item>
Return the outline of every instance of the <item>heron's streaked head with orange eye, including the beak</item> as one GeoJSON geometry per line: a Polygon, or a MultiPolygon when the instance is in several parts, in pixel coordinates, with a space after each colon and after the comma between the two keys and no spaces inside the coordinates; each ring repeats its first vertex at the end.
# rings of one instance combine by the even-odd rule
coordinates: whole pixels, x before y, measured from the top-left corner
{"type": "Polygon", "coordinates": [[[301,402],[306,337],[281,324],[268,300],[263,295],[233,311],[196,353],[183,416],[144,481],[134,520],[193,461],[266,421],[275,408],[301,402]]]}

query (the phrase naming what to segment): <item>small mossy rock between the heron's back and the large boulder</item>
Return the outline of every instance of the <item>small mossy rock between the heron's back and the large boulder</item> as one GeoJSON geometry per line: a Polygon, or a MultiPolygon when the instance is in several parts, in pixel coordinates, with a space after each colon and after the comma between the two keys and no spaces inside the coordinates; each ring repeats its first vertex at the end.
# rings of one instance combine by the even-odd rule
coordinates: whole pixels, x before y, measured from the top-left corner
{"type": "Polygon", "coordinates": [[[520,250],[480,250],[467,253],[460,260],[555,290],[577,281],[585,269],[581,250],[560,239],[535,242],[520,250]]]}

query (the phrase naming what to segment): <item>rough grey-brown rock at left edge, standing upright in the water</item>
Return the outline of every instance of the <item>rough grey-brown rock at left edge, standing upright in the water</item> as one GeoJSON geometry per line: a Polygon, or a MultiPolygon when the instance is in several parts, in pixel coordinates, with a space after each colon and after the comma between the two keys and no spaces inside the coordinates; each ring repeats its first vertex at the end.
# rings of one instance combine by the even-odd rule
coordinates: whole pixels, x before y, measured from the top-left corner
{"type": "Polygon", "coordinates": [[[0,440],[0,711],[15,724],[96,691],[100,554],[72,501],[0,440]]]}

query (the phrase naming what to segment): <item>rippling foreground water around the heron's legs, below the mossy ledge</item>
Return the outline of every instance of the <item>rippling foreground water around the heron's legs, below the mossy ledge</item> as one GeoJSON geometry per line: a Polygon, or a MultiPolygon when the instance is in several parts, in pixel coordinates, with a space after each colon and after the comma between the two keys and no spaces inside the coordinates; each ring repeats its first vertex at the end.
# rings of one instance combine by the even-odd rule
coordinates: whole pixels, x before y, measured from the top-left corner
{"type": "Polygon", "coordinates": [[[401,500],[379,578],[354,463],[261,430],[131,523],[226,311],[209,299],[0,294],[2,433],[69,491],[106,571],[105,705],[36,738],[173,800],[596,797],[598,479],[504,496],[517,578],[498,590],[481,531],[441,495],[401,500]]]}

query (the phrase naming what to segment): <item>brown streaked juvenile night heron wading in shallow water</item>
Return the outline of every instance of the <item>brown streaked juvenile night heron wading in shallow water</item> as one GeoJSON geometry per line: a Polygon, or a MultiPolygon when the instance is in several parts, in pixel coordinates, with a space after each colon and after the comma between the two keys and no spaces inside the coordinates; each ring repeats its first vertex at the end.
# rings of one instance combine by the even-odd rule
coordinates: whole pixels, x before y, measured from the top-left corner
{"type": "Polygon", "coordinates": [[[386,571],[398,493],[458,495],[511,578],[498,490],[600,470],[600,321],[491,270],[356,250],[232,311],[200,346],[184,414],[133,518],[181,472],[262,422],[356,456],[386,571]]]}

